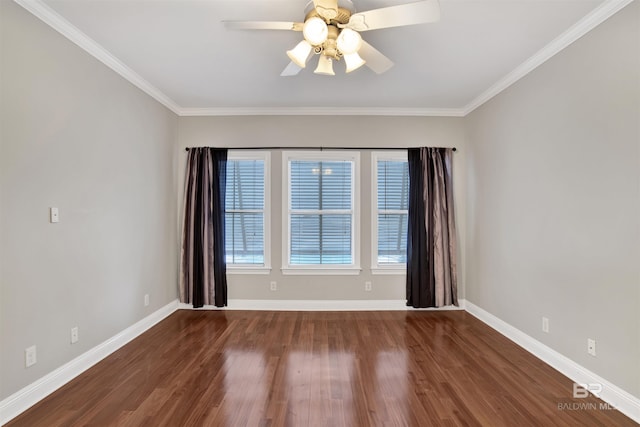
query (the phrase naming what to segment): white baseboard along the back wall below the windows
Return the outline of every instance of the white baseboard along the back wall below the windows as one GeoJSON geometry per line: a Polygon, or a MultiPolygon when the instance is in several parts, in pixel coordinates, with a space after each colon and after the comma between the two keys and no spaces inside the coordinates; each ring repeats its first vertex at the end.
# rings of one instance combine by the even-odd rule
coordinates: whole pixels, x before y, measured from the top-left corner
{"type": "MultiPolygon", "coordinates": [[[[260,300],[260,299],[230,299],[227,307],[219,308],[204,306],[197,310],[273,310],[273,311],[441,311],[464,310],[464,300],[460,306],[441,308],[407,307],[406,300],[260,300]]],[[[191,304],[181,303],[180,309],[193,310],[191,304]]]]}

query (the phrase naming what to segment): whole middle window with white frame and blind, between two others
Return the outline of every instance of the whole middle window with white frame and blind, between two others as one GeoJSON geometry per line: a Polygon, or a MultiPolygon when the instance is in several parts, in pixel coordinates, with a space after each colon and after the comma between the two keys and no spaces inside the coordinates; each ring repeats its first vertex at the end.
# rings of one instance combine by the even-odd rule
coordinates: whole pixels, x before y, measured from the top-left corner
{"type": "Polygon", "coordinates": [[[283,272],[358,274],[360,154],[283,155],[283,272]]]}

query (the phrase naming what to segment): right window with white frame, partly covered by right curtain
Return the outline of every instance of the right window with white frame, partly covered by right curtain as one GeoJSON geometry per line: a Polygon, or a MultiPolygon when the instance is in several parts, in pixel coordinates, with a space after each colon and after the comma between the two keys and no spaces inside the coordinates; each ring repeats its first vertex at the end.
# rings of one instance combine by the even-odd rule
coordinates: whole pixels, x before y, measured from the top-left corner
{"type": "Polygon", "coordinates": [[[409,164],[406,152],[372,154],[372,272],[406,272],[409,164]]]}

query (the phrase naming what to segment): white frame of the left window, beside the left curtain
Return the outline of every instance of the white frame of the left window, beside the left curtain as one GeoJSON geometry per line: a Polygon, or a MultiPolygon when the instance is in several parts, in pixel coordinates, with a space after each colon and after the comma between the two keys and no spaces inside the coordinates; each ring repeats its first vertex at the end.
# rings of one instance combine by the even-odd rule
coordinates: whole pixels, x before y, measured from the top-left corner
{"type": "MultiPolygon", "coordinates": [[[[227,153],[229,160],[262,160],[264,162],[264,263],[226,264],[227,274],[270,274],[271,273],[271,152],[262,150],[233,150],[227,153]]],[[[226,207],[225,207],[226,214],[226,207]]],[[[226,244],[226,243],[225,243],[226,244]]]]}

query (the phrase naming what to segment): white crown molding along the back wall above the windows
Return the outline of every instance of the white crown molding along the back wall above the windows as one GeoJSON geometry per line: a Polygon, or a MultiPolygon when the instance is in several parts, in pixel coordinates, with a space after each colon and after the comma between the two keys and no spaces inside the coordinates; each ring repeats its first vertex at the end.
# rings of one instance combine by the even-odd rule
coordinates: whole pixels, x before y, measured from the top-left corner
{"type": "Polygon", "coordinates": [[[182,108],[180,116],[430,116],[464,117],[459,108],[260,107],[182,108]]]}

